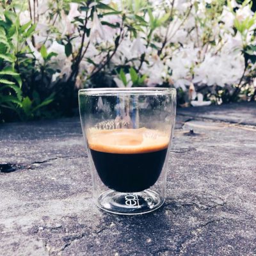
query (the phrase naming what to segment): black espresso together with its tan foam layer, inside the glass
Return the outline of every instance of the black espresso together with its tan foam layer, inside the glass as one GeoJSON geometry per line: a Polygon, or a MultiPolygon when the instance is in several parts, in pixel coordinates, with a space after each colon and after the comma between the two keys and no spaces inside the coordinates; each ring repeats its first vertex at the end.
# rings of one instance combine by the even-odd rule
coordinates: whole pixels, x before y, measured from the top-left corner
{"type": "Polygon", "coordinates": [[[150,129],[90,129],[88,145],[102,182],[115,191],[153,186],[163,168],[169,138],[150,129]]]}

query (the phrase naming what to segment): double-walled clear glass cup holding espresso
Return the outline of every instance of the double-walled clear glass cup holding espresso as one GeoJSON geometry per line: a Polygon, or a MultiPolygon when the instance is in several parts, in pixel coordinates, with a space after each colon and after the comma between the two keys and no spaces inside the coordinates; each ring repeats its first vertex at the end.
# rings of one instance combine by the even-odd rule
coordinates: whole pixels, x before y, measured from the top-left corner
{"type": "Polygon", "coordinates": [[[176,90],[79,90],[79,110],[100,209],[143,214],[163,205],[176,90]]]}

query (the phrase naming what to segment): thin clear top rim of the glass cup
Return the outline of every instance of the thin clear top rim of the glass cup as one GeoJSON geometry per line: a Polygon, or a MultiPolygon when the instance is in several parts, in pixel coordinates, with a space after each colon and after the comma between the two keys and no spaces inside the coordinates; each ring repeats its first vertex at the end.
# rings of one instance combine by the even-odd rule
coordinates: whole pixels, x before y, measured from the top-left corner
{"type": "Polygon", "coordinates": [[[79,95],[168,95],[176,94],[175,88],[162,87],[130,87],[130,88],[90,88],[80,89],[79,95]]]}

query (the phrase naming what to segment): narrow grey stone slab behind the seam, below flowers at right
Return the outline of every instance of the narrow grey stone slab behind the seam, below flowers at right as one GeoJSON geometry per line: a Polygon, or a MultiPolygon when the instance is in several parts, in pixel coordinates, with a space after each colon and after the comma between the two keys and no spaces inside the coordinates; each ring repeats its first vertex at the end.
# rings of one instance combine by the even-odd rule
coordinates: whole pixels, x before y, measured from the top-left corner
{"type": "Polygon", "coordinates": [[[223,122],[256,125],[256,102],[223,104],[221,106],[204,106],[179,108],[177,113],[193,118],[205,118],[223,122]]]}

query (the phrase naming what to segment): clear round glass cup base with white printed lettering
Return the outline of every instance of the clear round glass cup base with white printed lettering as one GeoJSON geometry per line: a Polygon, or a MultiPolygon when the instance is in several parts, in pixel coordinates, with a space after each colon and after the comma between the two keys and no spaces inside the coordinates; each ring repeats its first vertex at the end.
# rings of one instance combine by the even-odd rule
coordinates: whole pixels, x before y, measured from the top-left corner
{"type": "Polygon", "coordinates": [[[164,203],[164,198],[150,189],[137,193],[121,193],[108,190],[97,201],[100,209],[115,214],[143,214],[152,212],[164,203]]]}

